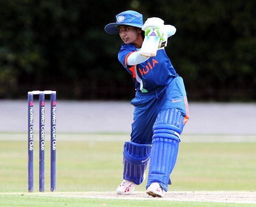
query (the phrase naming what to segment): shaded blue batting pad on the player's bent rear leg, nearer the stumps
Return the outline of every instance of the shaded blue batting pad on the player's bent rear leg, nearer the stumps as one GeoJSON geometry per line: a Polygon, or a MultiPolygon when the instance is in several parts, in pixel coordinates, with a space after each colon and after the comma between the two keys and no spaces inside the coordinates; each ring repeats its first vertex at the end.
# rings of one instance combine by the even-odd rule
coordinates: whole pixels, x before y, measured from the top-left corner
{"type": "Polygon", "coordinates": [[[124,173],[123,178],[139,185],[143,182],[143,175],[150,158],[151,145],[137,144],[131,141],[124,144],[124,173]]]}

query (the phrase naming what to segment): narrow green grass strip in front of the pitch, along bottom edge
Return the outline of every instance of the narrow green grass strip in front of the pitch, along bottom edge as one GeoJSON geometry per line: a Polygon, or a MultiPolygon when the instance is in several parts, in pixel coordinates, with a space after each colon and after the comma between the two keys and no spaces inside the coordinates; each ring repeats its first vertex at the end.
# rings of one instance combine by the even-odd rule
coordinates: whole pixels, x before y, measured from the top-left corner
{"type": "MultiPolygon", "coordinates": [[[[47,206],[83,206],[83,207],[245,207],[244,204],[216,202],[183,202],[156,200],[118,200],[99,198],[56,198],[33,195],[3,195],[0,206],[5,207],[47,207],[47,206]]],[[[256,204],[247,204],[255,207],[256,204]]]]}

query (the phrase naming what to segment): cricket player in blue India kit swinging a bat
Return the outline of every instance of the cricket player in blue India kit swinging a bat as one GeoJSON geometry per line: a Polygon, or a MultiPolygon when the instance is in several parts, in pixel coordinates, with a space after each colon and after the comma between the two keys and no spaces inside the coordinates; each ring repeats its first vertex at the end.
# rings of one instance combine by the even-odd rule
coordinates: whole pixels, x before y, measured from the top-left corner
{"type": "Polygon", "coordinates": [[[116,15],[116,22],[107,24],[105,31],[121,37],[118,59],[131,74],[136,90],[131,100],[131,139],[123,149],[124,180],[117,194],[134,192],[134,187],[145,180],[149,165],[146,192],[163,197],[171,184],[180,135],[189,119],[183,79],[164,49],[176,28],[156,17],[143,23],[140,13],[129,10],[116,15]]]}

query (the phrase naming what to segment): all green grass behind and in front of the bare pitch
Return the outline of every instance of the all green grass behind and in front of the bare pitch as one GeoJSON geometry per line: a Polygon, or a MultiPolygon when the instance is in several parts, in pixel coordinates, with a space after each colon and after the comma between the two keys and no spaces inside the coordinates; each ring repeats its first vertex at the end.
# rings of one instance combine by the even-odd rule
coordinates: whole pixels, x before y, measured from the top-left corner
{"type": "MultiPolygon", "coordinates": [[[[11,135],[10,135],[11,136],[11,135]]],[[[58,140],[57,192],[115,191],[122,181],[123,141],[58,140]]],[[[118,135],[113,135],[118,136],[118,135]]],[[[21,134],[24,137],[24,134],[21,134]]],[[[50,145],[48,141],[46,144],[50,145]]],[[[34,143],[34,191],[38,191],[38,142],[34,143]]],[[[50,152],[45,152],[45,191],[50,189],[50,152]]],[[[255,191],[256,143],[181,142],[169,191],[255,191]]],[[[174,201],[129,201],[20,195],[28,190],[27,140],[0,140],[0,206],[243,206],[174,201]],[[2,192],[2,193],[1,193],[2,192]],[[16,192],[5,195],[4,192],[16,192]],[[155,203],[157,202],[157,203],[155,203]]],[[[136,187],[145,191],[145,183],[136,187]]],[[[247,205],[249,206],[249,205],[247,205]]],[[[254,206],[254,205],[250,205],[254,206]]]]}

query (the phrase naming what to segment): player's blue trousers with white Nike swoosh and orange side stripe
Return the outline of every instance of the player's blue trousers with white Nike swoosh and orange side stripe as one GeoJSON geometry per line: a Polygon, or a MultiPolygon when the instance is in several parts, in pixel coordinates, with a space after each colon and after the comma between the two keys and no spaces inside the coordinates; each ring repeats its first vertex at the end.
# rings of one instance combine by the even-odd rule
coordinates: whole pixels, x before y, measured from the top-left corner
{"type": "Polygon", "coordinates": [[[137,91],[131,104],[134,106],[131,124],[131,141],[134,143],[152,143],[152,128],[161,110],[175,108],[184,116],[184,124],[188,120],[187,95],[181,77],[173,78],[168,85],[155,91],[137,91]]]}

